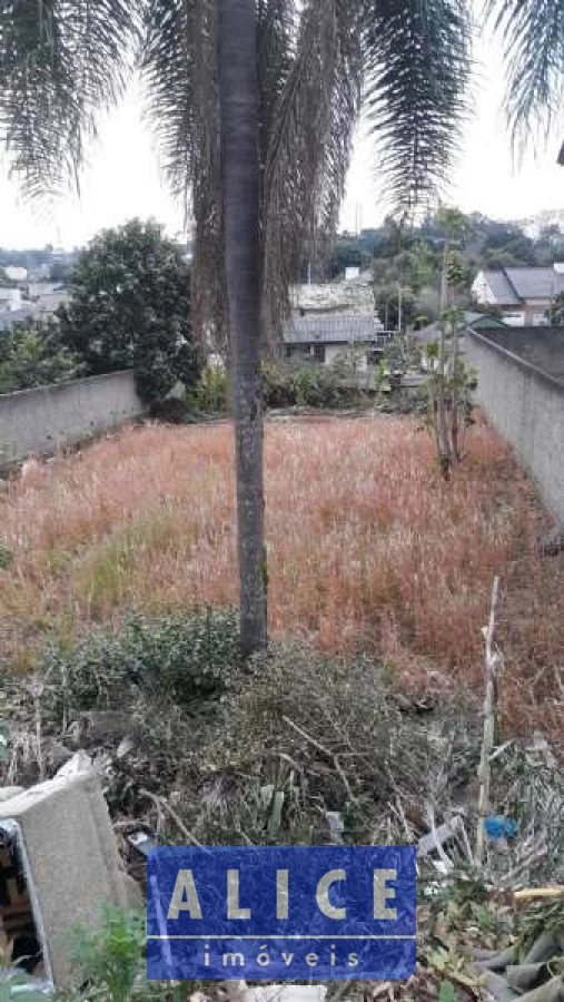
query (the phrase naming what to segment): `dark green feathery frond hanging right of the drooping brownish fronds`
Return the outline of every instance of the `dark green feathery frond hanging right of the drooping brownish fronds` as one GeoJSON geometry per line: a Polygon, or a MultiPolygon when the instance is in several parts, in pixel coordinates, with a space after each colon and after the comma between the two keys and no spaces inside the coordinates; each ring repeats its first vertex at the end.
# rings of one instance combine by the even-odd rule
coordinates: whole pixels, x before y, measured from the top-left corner
{"type": "Polygon", "coordinates": [[[409,215],[445,185],[466,112],[465,0],[366,0],[366,109],[385,187],[409,215]]]}

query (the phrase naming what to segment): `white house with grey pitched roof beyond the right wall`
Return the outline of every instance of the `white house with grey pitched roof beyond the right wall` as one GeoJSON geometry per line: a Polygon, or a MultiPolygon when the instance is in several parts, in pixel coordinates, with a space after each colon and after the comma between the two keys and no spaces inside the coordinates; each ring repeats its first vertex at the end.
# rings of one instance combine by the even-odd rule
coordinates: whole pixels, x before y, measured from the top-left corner
{"type": "Polygon", "coordinates": [[[547,323],[552,301],[564,292],[564,264],[479,272],[472,291],[482,306],[501,308],[504,323],[537,327],[547,323]]]}

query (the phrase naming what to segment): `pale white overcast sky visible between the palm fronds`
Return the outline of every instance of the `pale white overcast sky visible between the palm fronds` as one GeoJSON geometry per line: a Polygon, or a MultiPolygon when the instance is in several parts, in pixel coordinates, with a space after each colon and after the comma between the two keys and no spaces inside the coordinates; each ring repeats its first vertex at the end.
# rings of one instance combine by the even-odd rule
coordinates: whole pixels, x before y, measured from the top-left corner
{"type": "MultiPolygon", "coordinates": [[[[542,209],[564,208],[564,168],[556,165],[564,135],[555,135],[536,157],[530,151],[523,166],[514,169],[502,114],[499,47],[491,39],[481,40],[475,56],[475,114],[445,199],[465,212],[477,210],[493,218],[516,219],[542,209]]],[[[0,164],[0,246],[51,243],[72,247],[131,216],[154,216],[170,234],[179,234],[184,213],[167,194],[140,109],[139,90],[133,86],[122,106],[100,124],[100,139],[90,150],[90,167],[81,178],[80,202],[69,195],[51,210],[31,208],[0,164]]],[[[354,229],[357,222],[360,228],[377,225],[386,213],[374,164],[372,143],[359,129],[343,209],[346,228],[354,229]]]]}

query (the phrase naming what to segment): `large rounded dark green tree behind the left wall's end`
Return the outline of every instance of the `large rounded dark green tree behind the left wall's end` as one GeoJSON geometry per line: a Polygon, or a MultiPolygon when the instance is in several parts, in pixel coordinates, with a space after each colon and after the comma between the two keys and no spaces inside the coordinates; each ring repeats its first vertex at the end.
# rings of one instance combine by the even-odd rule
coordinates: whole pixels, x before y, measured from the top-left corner
{"type": "Polygon", "coordinates": [[[80,255],[59,310],[62,342],[88,375],[133,369],[147,402],[199,375],[189,269],[156,223],[132,219],[99,234],[80,255]]]}

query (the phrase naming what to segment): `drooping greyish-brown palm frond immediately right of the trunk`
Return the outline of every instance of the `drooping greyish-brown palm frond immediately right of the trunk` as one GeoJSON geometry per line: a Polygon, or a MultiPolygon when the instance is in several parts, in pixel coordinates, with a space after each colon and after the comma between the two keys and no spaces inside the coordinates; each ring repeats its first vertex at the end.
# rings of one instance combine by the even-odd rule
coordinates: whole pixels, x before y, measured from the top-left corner
{"type": "Polygon", "coordinates": [[[359,108],[356,4],[307,0],[268,137],[263,208],[263,323],[279,341],[288,287],[305,248],[337,220],[359,108]]]}

